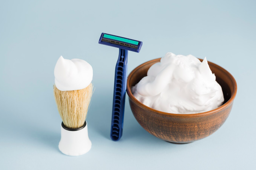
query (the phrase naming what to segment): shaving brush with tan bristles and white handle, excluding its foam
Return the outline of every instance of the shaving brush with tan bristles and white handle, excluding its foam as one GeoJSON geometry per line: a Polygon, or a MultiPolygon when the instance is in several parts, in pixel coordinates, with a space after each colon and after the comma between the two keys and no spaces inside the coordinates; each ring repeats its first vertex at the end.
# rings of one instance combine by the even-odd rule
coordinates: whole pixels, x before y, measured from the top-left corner
{"type": "Polygon", "coordinates": [[[53,88],[56,105],[62,119],[59,149],[69,156],[79,156],[91,149],[88,126],[85,121],[93,85],[81,90],[60,91],[53,88]]]}

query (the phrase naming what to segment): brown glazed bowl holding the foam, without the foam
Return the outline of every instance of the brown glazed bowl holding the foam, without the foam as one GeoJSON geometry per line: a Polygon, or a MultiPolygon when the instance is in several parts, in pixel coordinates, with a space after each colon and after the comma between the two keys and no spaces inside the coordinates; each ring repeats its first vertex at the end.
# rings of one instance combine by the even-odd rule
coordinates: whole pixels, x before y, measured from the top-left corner
{"type": "MultiPolygon", "coordinates": [[[[202,62],[202,59],[200,59],[202,62]]],[[[150,134],[172,143],[190,143],[208,137],[224,124],[230,114],[237,93],[237,83],[227,70],[217,64],[208,62],[224,94],[224,104],[212,111],[195,114],[173,114],[160,112],[143,105],[131,92],[143,77],[147,76],[149,67],[160,58],[139,65],[127,78],[127,94],[132,113],[139,124],[150,134]]]]}

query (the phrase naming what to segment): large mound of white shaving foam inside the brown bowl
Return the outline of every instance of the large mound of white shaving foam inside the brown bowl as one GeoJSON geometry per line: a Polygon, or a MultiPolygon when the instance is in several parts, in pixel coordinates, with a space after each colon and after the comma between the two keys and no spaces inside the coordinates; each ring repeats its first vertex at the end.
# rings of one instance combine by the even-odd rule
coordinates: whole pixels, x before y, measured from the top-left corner
{"type": "Polygon", "coordinates": [[[153,64],[132,93],[144,105],[167,113],[191,114],[213,110],[224,96],[206,58],[168,52],[153,64]]]}

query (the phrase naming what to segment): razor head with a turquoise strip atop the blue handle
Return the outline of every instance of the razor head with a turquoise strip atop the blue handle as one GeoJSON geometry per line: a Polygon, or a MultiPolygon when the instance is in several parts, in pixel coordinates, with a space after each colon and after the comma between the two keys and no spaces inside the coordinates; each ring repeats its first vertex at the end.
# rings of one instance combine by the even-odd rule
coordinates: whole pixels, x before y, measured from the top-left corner
{"type": "Polygon", "coordinates": [[[129,50],[133,52],[139,52],[142,46],[141,41],[114,36],[106,33],[101,33],[99,44],[113,46],[119,49],[129,50]]]}

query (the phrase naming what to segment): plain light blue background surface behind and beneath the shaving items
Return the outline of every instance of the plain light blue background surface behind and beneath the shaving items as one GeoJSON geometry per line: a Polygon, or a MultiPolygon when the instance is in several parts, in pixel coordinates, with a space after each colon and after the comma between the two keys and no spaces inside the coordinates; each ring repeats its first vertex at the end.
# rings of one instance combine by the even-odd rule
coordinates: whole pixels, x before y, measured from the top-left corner
{"type": "MultiPolygon", "coordinates": [[[[0,169],[255,169],[256,3],[233,1],[1,1],[0,169]],[[207,56],[237,80],[225,124],[212,136],[177,145],[146,132],[126,100],[120,141],[109,138],[118,49],[102,32],[141,40],[128,73],[166,52],[207,56]],[[61,119],[53,97],[57,59],[94,69],[88,112],[91,150],[58,150],[61,119]]],[[[126,96],[127,99],[127,96],[126,96]]]]}

